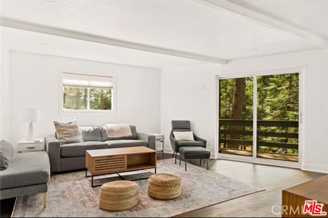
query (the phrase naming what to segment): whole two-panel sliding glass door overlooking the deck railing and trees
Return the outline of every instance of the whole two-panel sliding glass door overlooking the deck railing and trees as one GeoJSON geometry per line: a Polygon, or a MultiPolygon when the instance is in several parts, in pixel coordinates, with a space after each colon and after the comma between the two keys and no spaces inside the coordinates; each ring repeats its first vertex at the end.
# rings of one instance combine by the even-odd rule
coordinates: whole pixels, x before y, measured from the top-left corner
{"type": "Polygon", "coordinates": [[[219,153],[298,162],[298,72],[218,83],[219,153]]]}

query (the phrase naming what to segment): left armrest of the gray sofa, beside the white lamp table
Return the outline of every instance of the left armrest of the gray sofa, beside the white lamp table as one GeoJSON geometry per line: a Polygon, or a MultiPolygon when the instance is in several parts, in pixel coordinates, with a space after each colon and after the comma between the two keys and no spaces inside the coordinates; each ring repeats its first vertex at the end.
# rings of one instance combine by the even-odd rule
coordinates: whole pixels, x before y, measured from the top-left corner
{"type": "Polygon", "coordinates": [[[46,151],[49,155],[50,172],[59,172],[60,170],[60,142],[54,135],[45,138],[46,151]]]}

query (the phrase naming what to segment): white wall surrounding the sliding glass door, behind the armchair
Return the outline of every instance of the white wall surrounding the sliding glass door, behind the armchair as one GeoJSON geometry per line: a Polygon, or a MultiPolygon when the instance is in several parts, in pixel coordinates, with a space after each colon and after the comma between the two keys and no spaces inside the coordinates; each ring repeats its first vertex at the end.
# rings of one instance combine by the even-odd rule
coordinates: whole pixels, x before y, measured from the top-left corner
{"type": "MultiPolygon", "coordinates": [[[[328,72],[327,50],[311,50],[230,62],[203,64],[161,71],[161,133],[171,150],[172,120],[190,120],[192,129],[210,141],[216,140],[216,75],[247,75],[254,72],[303,68],[304,73],[304,158],[301,167],[328,173],[328,72]],[[202,86],[204,88],[202,89],[202,86]]],[[[302,158],[302,157],[301,157],[302,158]]]]}

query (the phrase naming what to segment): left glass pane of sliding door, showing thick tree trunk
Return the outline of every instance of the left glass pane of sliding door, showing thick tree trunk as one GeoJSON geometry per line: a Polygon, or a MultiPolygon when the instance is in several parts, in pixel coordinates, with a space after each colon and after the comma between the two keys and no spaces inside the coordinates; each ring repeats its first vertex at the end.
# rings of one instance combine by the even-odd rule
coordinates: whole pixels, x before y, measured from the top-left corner
{"type": "Polygon", "coordinates": [[[219,152],[252,156],[253,77],[219,80],[219,152]]]}

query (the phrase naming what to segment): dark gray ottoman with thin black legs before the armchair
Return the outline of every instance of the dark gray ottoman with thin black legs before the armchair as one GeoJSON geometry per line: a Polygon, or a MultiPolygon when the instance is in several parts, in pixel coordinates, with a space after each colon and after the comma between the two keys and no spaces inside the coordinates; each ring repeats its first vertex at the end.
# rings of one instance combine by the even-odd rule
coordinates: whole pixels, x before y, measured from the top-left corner
{"type": "Polygon", "coordinates": [[[200,163],[201,159],[206,159],[207,169],[209,170],[208,158],[210,158],[211,151],[200,146],[183,146],[179,147],[180,154],[180,165],[181,165],[181,156],[185,158],[185,170],[187,171],[187,159],[199,158],[200,163]]]}

